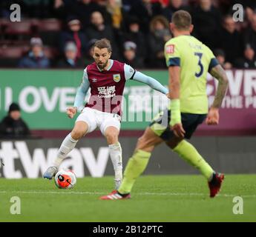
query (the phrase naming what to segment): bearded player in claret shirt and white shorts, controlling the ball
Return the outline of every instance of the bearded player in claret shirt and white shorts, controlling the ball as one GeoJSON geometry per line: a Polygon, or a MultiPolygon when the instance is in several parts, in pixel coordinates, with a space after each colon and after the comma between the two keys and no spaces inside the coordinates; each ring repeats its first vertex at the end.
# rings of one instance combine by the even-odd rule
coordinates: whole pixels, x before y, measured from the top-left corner
{"type": "Polygon", "coordinates": [[[99,127],[108,142],[109,153],[114,167],[115,184],[118,189],[122,181],[122,147],[118,136],[121,121],[122,94],[125,82],[140,81],[154,90],[167,95],[168,89],[160,82],[134,70],[128,64],[111,59],[111,43],[108,39],[100,39],[94,44],[93,59],[85,70],[73,107],[68,107],[67,114],[71,119],[78,112],[75,126],[62,142],[53,165],[45,171],[44,178],[53,178],[63,159],[76,146],[76,142],[99,127]],[[91,97],[85,104],[85,95],[91,87],[91,97]]]}

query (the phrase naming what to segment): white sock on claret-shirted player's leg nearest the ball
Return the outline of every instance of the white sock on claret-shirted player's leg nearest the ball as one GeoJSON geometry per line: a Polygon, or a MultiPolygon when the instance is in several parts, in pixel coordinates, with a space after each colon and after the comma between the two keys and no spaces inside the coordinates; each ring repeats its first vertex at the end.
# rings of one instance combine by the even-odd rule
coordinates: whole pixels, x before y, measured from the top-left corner
{"type": "Polygon", "coordinates": [[[59,168],[59,165],[66,158],[68,153],[70,153],[70,151],[73,150],[74,147],[76,147],[77,141],[78,140],[75,140],[72,138],[70,133],[68,134],[68,136],[65,137],[65,139],[62,141],[62,145],[59,147],[59,151],[57,153],[57,158],[53,162],[54,166],[59,168]]]}

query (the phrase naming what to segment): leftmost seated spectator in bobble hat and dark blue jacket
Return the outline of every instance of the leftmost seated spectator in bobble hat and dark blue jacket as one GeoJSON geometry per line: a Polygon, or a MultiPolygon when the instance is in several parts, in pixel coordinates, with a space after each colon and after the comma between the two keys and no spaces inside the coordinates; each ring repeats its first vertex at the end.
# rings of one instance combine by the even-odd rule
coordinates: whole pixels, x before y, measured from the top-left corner
{"type": "Polygon", "coordinates": [[[50,67],[50,61],[47,59],[43,52],[42,39],[31,38],[30,39],[31,50],[27,56],[19,61],[18,67],[22,68],[48,68],[50,67]]]}

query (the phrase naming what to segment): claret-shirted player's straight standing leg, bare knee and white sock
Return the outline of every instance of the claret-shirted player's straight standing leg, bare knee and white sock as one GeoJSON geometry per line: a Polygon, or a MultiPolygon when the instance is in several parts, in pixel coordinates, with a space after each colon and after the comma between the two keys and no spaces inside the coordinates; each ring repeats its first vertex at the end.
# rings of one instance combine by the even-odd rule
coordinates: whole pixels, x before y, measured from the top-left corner
{"type": "Polygon", "coordinates": [[[116,127],[110,126],[105,130],[105,138],[108,142],[109,153],[114,167],[115,187],[117,190],[122,182],[122,147],[118,141],[119,130],[116,127]]]}

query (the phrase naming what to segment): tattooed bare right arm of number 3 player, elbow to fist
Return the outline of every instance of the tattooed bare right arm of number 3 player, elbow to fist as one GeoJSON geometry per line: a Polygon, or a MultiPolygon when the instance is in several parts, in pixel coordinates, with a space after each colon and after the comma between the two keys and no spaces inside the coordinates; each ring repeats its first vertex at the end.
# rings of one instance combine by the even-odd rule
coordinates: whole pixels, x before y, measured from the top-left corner
{"type": "Polygon", "coordinates": [[[226,76],[226,72],[223,67],[218,64],[213,67],[210,71],[211,76],[219,81],[217,86],[217,91],[214,97],[214,102],[211,105],[208,116],[206,118],[206,124],[216,125],[219,123],[219,108],[223,102],[223,99],[226,95],[226,90],[228,89],[229,80],[226,76]]]}

